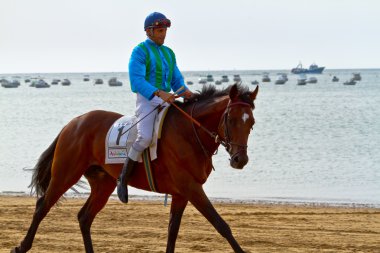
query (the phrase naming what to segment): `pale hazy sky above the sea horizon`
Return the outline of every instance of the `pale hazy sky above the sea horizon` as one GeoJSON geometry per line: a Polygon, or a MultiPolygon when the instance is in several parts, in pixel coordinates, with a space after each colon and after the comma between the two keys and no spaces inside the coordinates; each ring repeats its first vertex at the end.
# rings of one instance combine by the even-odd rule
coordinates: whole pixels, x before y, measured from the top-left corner
{"type": "Polygon", "coordinates": [[[377,0],[0,0],[0,74],[127,72],[145,17],[182,71],[380,68],[377,0]]]}

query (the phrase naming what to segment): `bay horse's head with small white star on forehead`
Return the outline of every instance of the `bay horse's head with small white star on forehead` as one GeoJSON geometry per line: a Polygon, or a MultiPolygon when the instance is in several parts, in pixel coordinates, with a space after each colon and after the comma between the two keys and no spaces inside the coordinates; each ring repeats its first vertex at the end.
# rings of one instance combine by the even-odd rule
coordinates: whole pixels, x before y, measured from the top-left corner
{"type": "Polygon", "coordinates": [[[253,92],[239,94],[238,86],[233,85],[229,92],[230,100],[219,123],[219,135],[224,139],[231,157],[231,167],[235,169],[242,169],[248,163],[247,142],[255,124],[252,111],[258,91],[257,86],[253,92]]]}

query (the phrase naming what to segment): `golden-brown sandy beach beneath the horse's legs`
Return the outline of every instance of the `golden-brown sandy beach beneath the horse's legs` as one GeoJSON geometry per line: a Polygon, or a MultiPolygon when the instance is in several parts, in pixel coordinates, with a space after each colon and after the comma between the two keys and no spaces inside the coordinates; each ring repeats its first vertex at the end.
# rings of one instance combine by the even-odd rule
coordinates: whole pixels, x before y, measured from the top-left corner
{"type": "MultiPolygon", "coordinates": [[[[0,196],[0,252],[25,236],[34,197],[0,196]]],[[[76,215],[85,199],[66,199],[41,223],[30,252],[84,252],[76,215]]],[[[246,252],[380,252],[380,209],[215,203],[246,252]]],[[[95,252],[165,252],[170,207],[110,199],[92,226],[95,252]]],[[[189,204],[176,252],[232,252],[189,204]]]]}

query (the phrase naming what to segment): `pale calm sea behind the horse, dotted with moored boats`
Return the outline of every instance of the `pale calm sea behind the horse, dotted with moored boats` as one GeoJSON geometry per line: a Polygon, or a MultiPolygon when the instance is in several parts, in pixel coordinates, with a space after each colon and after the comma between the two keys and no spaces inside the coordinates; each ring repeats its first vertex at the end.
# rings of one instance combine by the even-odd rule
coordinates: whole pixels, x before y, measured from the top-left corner
{"type": "MultiPolygon", "coordinates": [[[[215,171],[204,184],[211,199],[231,202],[301,203],[380,208],[380,69],[326,69],[308,75],[317,83],[297,85],[298,75],[289,70],[268,70],[270,82],[261,81],[262,70],[183,72],[188,87],[196,92],[208,74],[215,80],[240,75],[251,90],[259,82],[255,101],[256,124],[248,142],[249,162],[243,170],[229,166],[221,147],[213,157],[215,171]],[[344,85],[353,72],[362,80],[344,85]],[[288,81],[276,85],[278,73],[288,81]],[[340,81],[332,82],[337,76],[340,81]]],[[[18,88],[0,87],[0,193],[29,194],[31,172],[41,153],[72,118],[91,110],[133,115],[135,96],[128,73],[1,74],[18,79],[18,88]],[[83,78],[88,75],[90,81],[83,78]],[[120,87],[108,80],[117,77],[120,87]],[[27,78],[67,78],[70,86],[30,87],[27,78]],[[104,80],[94,85],[94,79],[104,80]]],[[[68,170],[70,168],[67,168],[68,170]]],[[[83,194],[89,188],[78,189],[83,194]]],[[[68,192],[70,194],[70,192],[68,192]]],[[[115,193],[114,193],[115,194],[115,193]]],[[[130,187],[141,198],[163,198],[130,187]]],[[[115,196],[115,195],[114,195],[115,196]]]]}

